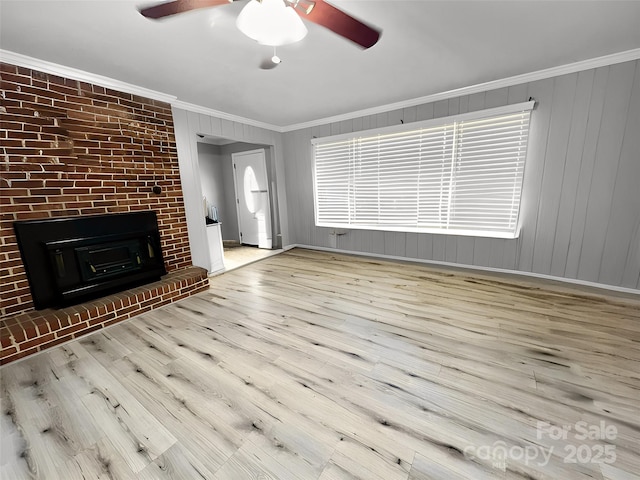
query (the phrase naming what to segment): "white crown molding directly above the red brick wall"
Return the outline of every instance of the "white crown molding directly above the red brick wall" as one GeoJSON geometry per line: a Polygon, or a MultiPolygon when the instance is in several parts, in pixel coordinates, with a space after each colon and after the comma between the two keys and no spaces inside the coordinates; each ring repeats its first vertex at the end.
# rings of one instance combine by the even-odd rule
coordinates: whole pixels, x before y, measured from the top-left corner
{"type": "Polygon", "coordinates": [[[96,75],[95,73],[85,72],[84,70],[78,70],[76,68],[66,67],[57,63],[47,62],[46,60],[28,57],[27,55],[10,52],[8,50],[0,50],[0,60],[19,67],[38,70],[40,72],[58,75],[59,77],[70,78],[72,80],[79,80],[81,82],[99,85],[101,87],[118,90],[120,92],[140,95],[142,97],[159,100],[161,102],[172,103],[176,99],[175,95],[168,95],[148,88],[139,87],[131,83],[122,82],[115,78],[103,77],[102,75],[96,75]]]}

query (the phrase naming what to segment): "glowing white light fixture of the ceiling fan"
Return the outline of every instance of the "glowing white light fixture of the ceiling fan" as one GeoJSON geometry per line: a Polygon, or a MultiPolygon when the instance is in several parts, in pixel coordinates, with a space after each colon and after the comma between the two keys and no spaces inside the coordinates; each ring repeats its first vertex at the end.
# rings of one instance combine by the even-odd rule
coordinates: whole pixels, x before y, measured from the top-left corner
{"type": "Polygon", "coordinates": [[[283,0],[251,0],[236,25],[247,37],[273,47],[298,42],[307,35],[302,19],[283,0]]]}

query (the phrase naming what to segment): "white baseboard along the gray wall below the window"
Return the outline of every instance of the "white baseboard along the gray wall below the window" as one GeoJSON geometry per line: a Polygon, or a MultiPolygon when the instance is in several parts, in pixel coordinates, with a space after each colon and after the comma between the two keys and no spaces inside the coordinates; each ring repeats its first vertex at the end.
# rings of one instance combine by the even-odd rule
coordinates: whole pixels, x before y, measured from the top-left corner
{"type": "Polygon", "coordinates": [[[522,277],[533,277],[544,280],[552,280],[555,282],[568,283],[573,285],[580,285],[583,287],[591,287],[591,288],[599,288],[602,290],[611,290],[614,292],[620,293],[630,293],[633,295],[640,296],[640,290],[635,288],[628,287],[619,287],[617,285],[607,285],[605,283],[596,283],[596,282],[588,282],[586,280],[579,280],[576,278],[565,278],[565,277],[556,277],[553,275],[545,275],[543,273],[535,273],[535,272],[523,272],[520,270],[508,270],[506,268],[493,268],[493,267],[482,267],[477,265],[465,265],[462,263],[453,263],[453,262],[442,262],[439,260],[425,260],[422,258],[411,258],[411,257],[401,257],[398,255],[385,255],[382,253],[369,253],[369,252],[358,252],[352,250],[342,250],[339,248],[330,248],[330,247],[318,247],[315,245],[303,245],[303,244],[293,244],[287,247],[284,247],[284,251],[291,250],[293,248],[306,248],[309,250],[319,250],[323,252],[333,252],[333,253],[344,253],[346,255],[357,255],[360,257],[373,257],[380,258],[384,260],[396,260],[401,262],[415,262],[415,263],[423,263],[425,265],[437,265],[441,267],[451,267],[451,268],[463,268],[467,270],[478,270],[480,272],[492,272],[492,273],[504,273],[508,275],[519,275],[522,277]]]}

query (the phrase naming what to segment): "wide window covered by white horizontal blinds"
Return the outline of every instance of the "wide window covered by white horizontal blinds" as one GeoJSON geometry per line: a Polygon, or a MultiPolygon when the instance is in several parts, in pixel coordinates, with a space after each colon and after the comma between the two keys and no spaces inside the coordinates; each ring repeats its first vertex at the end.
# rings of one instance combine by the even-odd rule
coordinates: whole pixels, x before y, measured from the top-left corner
{"type": "Polygon", "coordinates": [[[517,237],[533,105],[312,140],[316,225],[517,237]]]}

